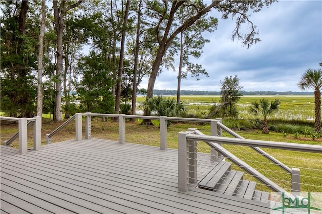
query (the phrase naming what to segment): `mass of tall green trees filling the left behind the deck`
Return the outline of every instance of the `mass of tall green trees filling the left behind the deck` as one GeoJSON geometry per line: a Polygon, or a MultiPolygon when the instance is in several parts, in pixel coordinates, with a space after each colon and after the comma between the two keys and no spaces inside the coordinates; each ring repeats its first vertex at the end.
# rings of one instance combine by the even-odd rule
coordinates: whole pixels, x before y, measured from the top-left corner
{"type": "Polygon", "coordinates": [[[151,98],[156,77],[164,69],[175,70],[175,56],[180,52],[178,80],[188,73],[196,79],[207,76],[191,57],[203,54],[208,40],[202,32],[216,29],[218,18],[209,12],[235,19],[236,27],[227,36],[250,47],[259,38],[249,13],[272,2],[2,2],[1,110],[11,116],[32,117],[38,94],[42,101],[38,105],[43,108],[37,114],[51,113],[56,121],[62,120],[62,111],[66,118],[75,111],[110,112],[118,109],[119,102],[132,100],[135,114],[142,79],[149,79],[144,91],[151,98]],[[241,31],[243,24],[248,32],[241,31]]]}

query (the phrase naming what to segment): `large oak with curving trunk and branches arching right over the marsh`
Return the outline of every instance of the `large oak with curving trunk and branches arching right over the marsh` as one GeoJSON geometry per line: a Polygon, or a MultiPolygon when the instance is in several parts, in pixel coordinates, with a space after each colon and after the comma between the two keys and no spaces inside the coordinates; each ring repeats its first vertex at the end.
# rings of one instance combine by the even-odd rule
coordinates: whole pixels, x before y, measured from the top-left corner
{"type": "MultiPolygon", "coordinates": [[[[255,38],[258,31],[255,30],[256,26],[250,21],[247,12],[251,9],[253,12],[259,12],[261,8],[266,5],[269,6],[274,0],[263,1],[212,1],[210,5],[206,6],[202,1],[151,1],[150,7],[153,11],[150,13],[152,20],[157,20],[155,23],[155,34],[158,42],[157,54],[154,60],[154,64],[151,70],[151,75],[148,81],[146,99],[153,96],[153,89],[156,77],[159,73],[160,65],[162,64],[162,58],[170,47],[177,35],[193,25],[200,17],[207,14],[211,9],[218,10],[222,13],[222,18],[227,19],[229,15],[236,19],[236,27],[232,34],[232,39],[241,40],[243,45],[248,48],[260,41],[259,38],[255,38]],[[174,26],[174,17],[180,7],[194,8],[194,14],[187,17],[187,19],[180,26],[174,26]],[[241,32],[241,25],[248,23],[249,33],[243,34],[241,32]]],[[[144,115],[148,112],[144,111],[144,115]]]]}

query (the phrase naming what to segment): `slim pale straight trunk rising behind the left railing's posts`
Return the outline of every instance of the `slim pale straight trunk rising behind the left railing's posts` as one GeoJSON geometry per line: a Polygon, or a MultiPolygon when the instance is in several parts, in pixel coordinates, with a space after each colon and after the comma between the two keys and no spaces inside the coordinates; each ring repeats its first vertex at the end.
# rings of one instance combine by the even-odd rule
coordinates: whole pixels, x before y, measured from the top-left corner
{"type": "Polygon", "coordinates": [[[39,50],[38,50],[38,84],[37,84],[37,116],[42,117],[42,73],[43,73],[43,49],[45,35],[45,19],[46,19],[46,0],[41,1],[41,24],[39,35],[39,50]]]}

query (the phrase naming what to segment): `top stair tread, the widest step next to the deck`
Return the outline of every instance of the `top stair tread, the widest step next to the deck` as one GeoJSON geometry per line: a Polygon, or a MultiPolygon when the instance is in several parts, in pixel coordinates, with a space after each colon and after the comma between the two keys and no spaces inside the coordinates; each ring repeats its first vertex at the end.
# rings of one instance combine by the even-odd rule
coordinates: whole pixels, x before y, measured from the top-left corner
{"type": "Polygon", "coordinates": [[[218,183],[222,182],[222,177],[230,171],[231,162],[219,162],[213,170],[211,170],[198,184],[198,186],[206,188],[216,188],[218,183]]]}

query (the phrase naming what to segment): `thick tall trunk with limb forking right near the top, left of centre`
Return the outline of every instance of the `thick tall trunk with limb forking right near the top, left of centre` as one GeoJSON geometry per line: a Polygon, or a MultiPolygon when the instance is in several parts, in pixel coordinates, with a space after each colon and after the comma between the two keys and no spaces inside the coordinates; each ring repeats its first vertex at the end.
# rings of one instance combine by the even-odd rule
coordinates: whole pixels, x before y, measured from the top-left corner
{"type": "MultiPolygon", "coordinates": [[[[24,2],[24,1],[23,1],[24,2]]],[[[66,5],[66,0],[61,0],[60,5],[58,6],[59,1],[53,1],[53,9],[54,9],[54,27],[57,34],[57,61],[56,61],[56,80],[55,80],[55,90],[56,90],[56,102],[55,102],[55,121],[62,121],[62,112],[61,112],[61,98],[62,98],[62,72],[63,72],[63,34],[65,29],[64,19],[66,13],[79,6],[83,0],[79,0],[78,2],[66,5]]]]}

